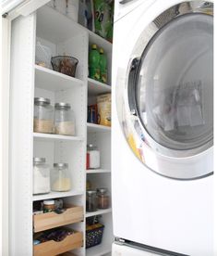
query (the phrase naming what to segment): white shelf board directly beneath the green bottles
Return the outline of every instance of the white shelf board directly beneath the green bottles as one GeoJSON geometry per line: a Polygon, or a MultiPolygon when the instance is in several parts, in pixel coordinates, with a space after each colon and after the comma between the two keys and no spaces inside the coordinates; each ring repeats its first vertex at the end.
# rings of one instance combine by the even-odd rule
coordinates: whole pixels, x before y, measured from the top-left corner
{"type": "Polygon", "coordinates": [[[88,94],[89,96],[97,96],[100,94],[111,93],[111,86],[105,83],[98,82],[94,79],[88,79],[88,94]]]}

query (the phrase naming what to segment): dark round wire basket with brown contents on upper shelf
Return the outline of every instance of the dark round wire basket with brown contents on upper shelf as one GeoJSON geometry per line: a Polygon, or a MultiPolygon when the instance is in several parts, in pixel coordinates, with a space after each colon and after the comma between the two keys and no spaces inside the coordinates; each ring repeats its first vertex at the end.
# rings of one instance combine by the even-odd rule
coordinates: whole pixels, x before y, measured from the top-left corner
{"type": "Polygon", "coordinates": [[[51,59],[53,70],[75,77],[78,59],[69,56],[56,56],[51,59]]]}

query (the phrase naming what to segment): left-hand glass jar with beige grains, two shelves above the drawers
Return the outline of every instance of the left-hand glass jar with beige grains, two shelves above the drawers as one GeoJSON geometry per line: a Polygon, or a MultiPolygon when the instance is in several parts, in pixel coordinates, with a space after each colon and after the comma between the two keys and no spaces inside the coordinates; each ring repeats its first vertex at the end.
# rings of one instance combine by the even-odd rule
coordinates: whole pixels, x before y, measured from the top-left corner
{"type": "Polygon", "coordinates": [[[54,133],[54,108],[49,98],[34,98],[34,128],[35,133],[54,133]]]}

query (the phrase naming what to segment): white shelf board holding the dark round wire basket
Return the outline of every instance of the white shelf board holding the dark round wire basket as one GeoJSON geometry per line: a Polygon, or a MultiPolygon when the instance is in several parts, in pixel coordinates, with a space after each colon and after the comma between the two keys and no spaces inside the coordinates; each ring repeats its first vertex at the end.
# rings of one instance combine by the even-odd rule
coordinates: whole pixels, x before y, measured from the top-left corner
{"type": "Polygon", "coordinates": [[[60,91],[82,85],[77,78],[35,65],[35,86],[49,91],[60,91]]]}

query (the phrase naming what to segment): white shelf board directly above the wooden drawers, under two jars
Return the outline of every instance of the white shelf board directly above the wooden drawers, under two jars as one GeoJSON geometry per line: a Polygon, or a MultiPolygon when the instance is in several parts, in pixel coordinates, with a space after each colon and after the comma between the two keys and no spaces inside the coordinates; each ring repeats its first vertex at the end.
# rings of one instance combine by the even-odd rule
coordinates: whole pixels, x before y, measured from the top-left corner
{"type": "Polygon", "coordinates": [[[51,198],[67,198],[67,197],[73,197],[73,196],[81,196],[84,194],[84,191],[81,190],[71,190],[68,192],[51,192],[49,194],[44,195],[33,195],[32,200],[38,201],[38,200],[45,200],[45,199],[51,199],[51,198]]]}

